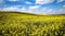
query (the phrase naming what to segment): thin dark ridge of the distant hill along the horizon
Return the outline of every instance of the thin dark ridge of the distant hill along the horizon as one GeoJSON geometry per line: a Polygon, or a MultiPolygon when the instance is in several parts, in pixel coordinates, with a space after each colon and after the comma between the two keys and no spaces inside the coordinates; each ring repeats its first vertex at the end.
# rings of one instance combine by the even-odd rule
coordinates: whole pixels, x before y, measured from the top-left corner
{"type": "Polygon", "coordinates": [[[65,15],[65,14],[35,14],[35,13],[16,12],[16,11],[0,11],[0,13],[20,13],[20,14],[27,14],[27,15],[65,15]]]}

